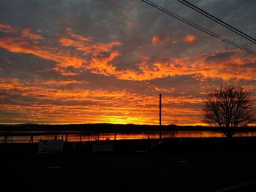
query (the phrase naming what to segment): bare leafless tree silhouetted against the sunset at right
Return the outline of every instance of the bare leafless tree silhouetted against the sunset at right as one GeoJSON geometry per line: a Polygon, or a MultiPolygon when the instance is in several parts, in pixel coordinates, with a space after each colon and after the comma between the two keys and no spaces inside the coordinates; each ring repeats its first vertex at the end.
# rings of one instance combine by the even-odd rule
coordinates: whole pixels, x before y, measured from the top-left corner
{"type": "Polygon", "coordinates": [[[251,94],[243,87],[227,86],[208,93],[203,105],[203,123],[222,128],[226,137],[256,122],[251,94]]]}

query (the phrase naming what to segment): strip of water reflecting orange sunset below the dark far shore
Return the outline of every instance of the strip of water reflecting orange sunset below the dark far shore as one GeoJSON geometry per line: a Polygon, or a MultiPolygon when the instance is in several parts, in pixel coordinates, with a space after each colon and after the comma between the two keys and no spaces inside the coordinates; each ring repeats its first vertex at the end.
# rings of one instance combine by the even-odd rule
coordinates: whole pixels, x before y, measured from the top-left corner
{"type": "MultiPolygon", "coordinates": [[[[222,132],[217,131],[162,131],[162,138],[173,137],[224,137],[222,132]]],[[[256,131],[241,132],[234,137],[256,137],[256,131]]],[[[159,131],[141,131],[129,133],[98,133],[98,134],[56,134],[31,136],[8,136],[7,143],[28,143],[38,142],[41,139],[62,139],[67,142],[89,142],[95,140],[120,140],[120,139],[158,139],[159,131]]],[[[4,137],[0,137],[0,142],[4,142],[4,137]]]]}

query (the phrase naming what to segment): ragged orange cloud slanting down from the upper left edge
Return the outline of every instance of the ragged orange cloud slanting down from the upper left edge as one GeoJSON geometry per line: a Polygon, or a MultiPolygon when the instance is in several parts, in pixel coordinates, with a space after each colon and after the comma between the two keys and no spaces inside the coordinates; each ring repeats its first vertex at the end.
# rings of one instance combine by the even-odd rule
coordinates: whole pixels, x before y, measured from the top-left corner
{"type": "Polygon", "coordinates": [[[21,37],[4,37],[0,40],[0,47],[3,47],[11,52],[15,53],[29,53],[37,55],[40,58],[45,58],[50,61],[55,61],[56,70],[61,72],[64,75],[74,75],[76,73],[66,72],[65,69],[69,66],[74,68],[80,68],[86,62],[86,69],[91,69],[93,72],[99,72],[102,70],[102,74],[113,75],[115,72],[115,67],[113,67],[110,62],[113,61],[116,56],[120,55],[117,51],[113,51],[113,47],[120,46],[120,42],[110,42],[110,43],[94,43],[91,42],[91,38],[87,39],[81,36],[78,36],[72,33],[72,30],[67,30],[71,37],[75,39],[69,39],[63,37],[59,39],[60,45],[64,47],[76,47],[77,50],[83,51],[86,54],[93,54],[96,57],[92,58],[89,61],[84,61],[82,57],[79,57],[77,54],[70,54],[68,50],[62,49],[59,50],[55,46],[46,46],[38,45],[37,39],[40,39],[39,36],[33,34],[30,29],[23,30],[21,37]],[[24,37],[35,40],[35,42],[27,41],[24,37]],[[102,57],[101,53],[109,53],[109,56],[106,55],[102,57]],[[104,67],[105,66],[105,67],[104,67]]]}

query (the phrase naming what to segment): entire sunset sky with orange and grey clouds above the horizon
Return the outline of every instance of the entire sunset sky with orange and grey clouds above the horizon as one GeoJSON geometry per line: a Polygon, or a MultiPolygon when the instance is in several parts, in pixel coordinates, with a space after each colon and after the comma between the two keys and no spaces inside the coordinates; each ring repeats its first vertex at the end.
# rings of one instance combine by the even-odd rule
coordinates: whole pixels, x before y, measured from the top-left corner
{"type": "MultiPolygon", "coordinates": [[[[178,1],[152,0],[256,52],[178,1]]],[[[189,0],[256,38],[255,0],[189,0]]],[[[220,85],[255,99],[256,56],[140,0],[1,0],[0,123],[200,125],[220,85]]]]}

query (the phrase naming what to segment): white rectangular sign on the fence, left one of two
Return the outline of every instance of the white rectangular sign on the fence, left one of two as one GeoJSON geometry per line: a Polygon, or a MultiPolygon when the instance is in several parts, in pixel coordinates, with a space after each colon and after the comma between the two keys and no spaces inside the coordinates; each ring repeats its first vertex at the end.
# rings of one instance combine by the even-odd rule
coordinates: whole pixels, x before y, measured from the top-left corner
{"type": "Polygon", "coordinates": [[[63,140],[39,140],[38,153],[63,152],[63,140]]]}

